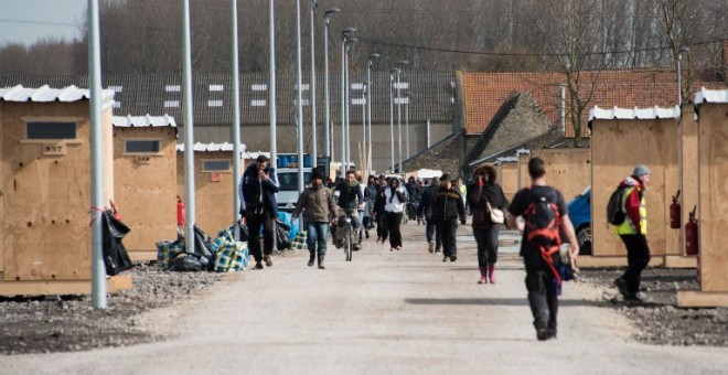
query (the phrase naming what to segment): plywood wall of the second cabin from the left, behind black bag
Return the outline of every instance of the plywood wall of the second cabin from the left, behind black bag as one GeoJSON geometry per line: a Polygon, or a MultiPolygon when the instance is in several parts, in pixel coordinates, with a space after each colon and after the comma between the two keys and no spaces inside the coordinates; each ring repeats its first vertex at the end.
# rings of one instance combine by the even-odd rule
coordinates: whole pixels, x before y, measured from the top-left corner
{"type": "Polygon", "coordinates": [[[172,127],[114,129],[115,196],[121,221],[131,228],[124,238],[129,253],[153,250],[157,242],[176,237],[175,135],[172,127]],[[160,152],[125,154],[128,139],[159,140],[160,152]]]}

